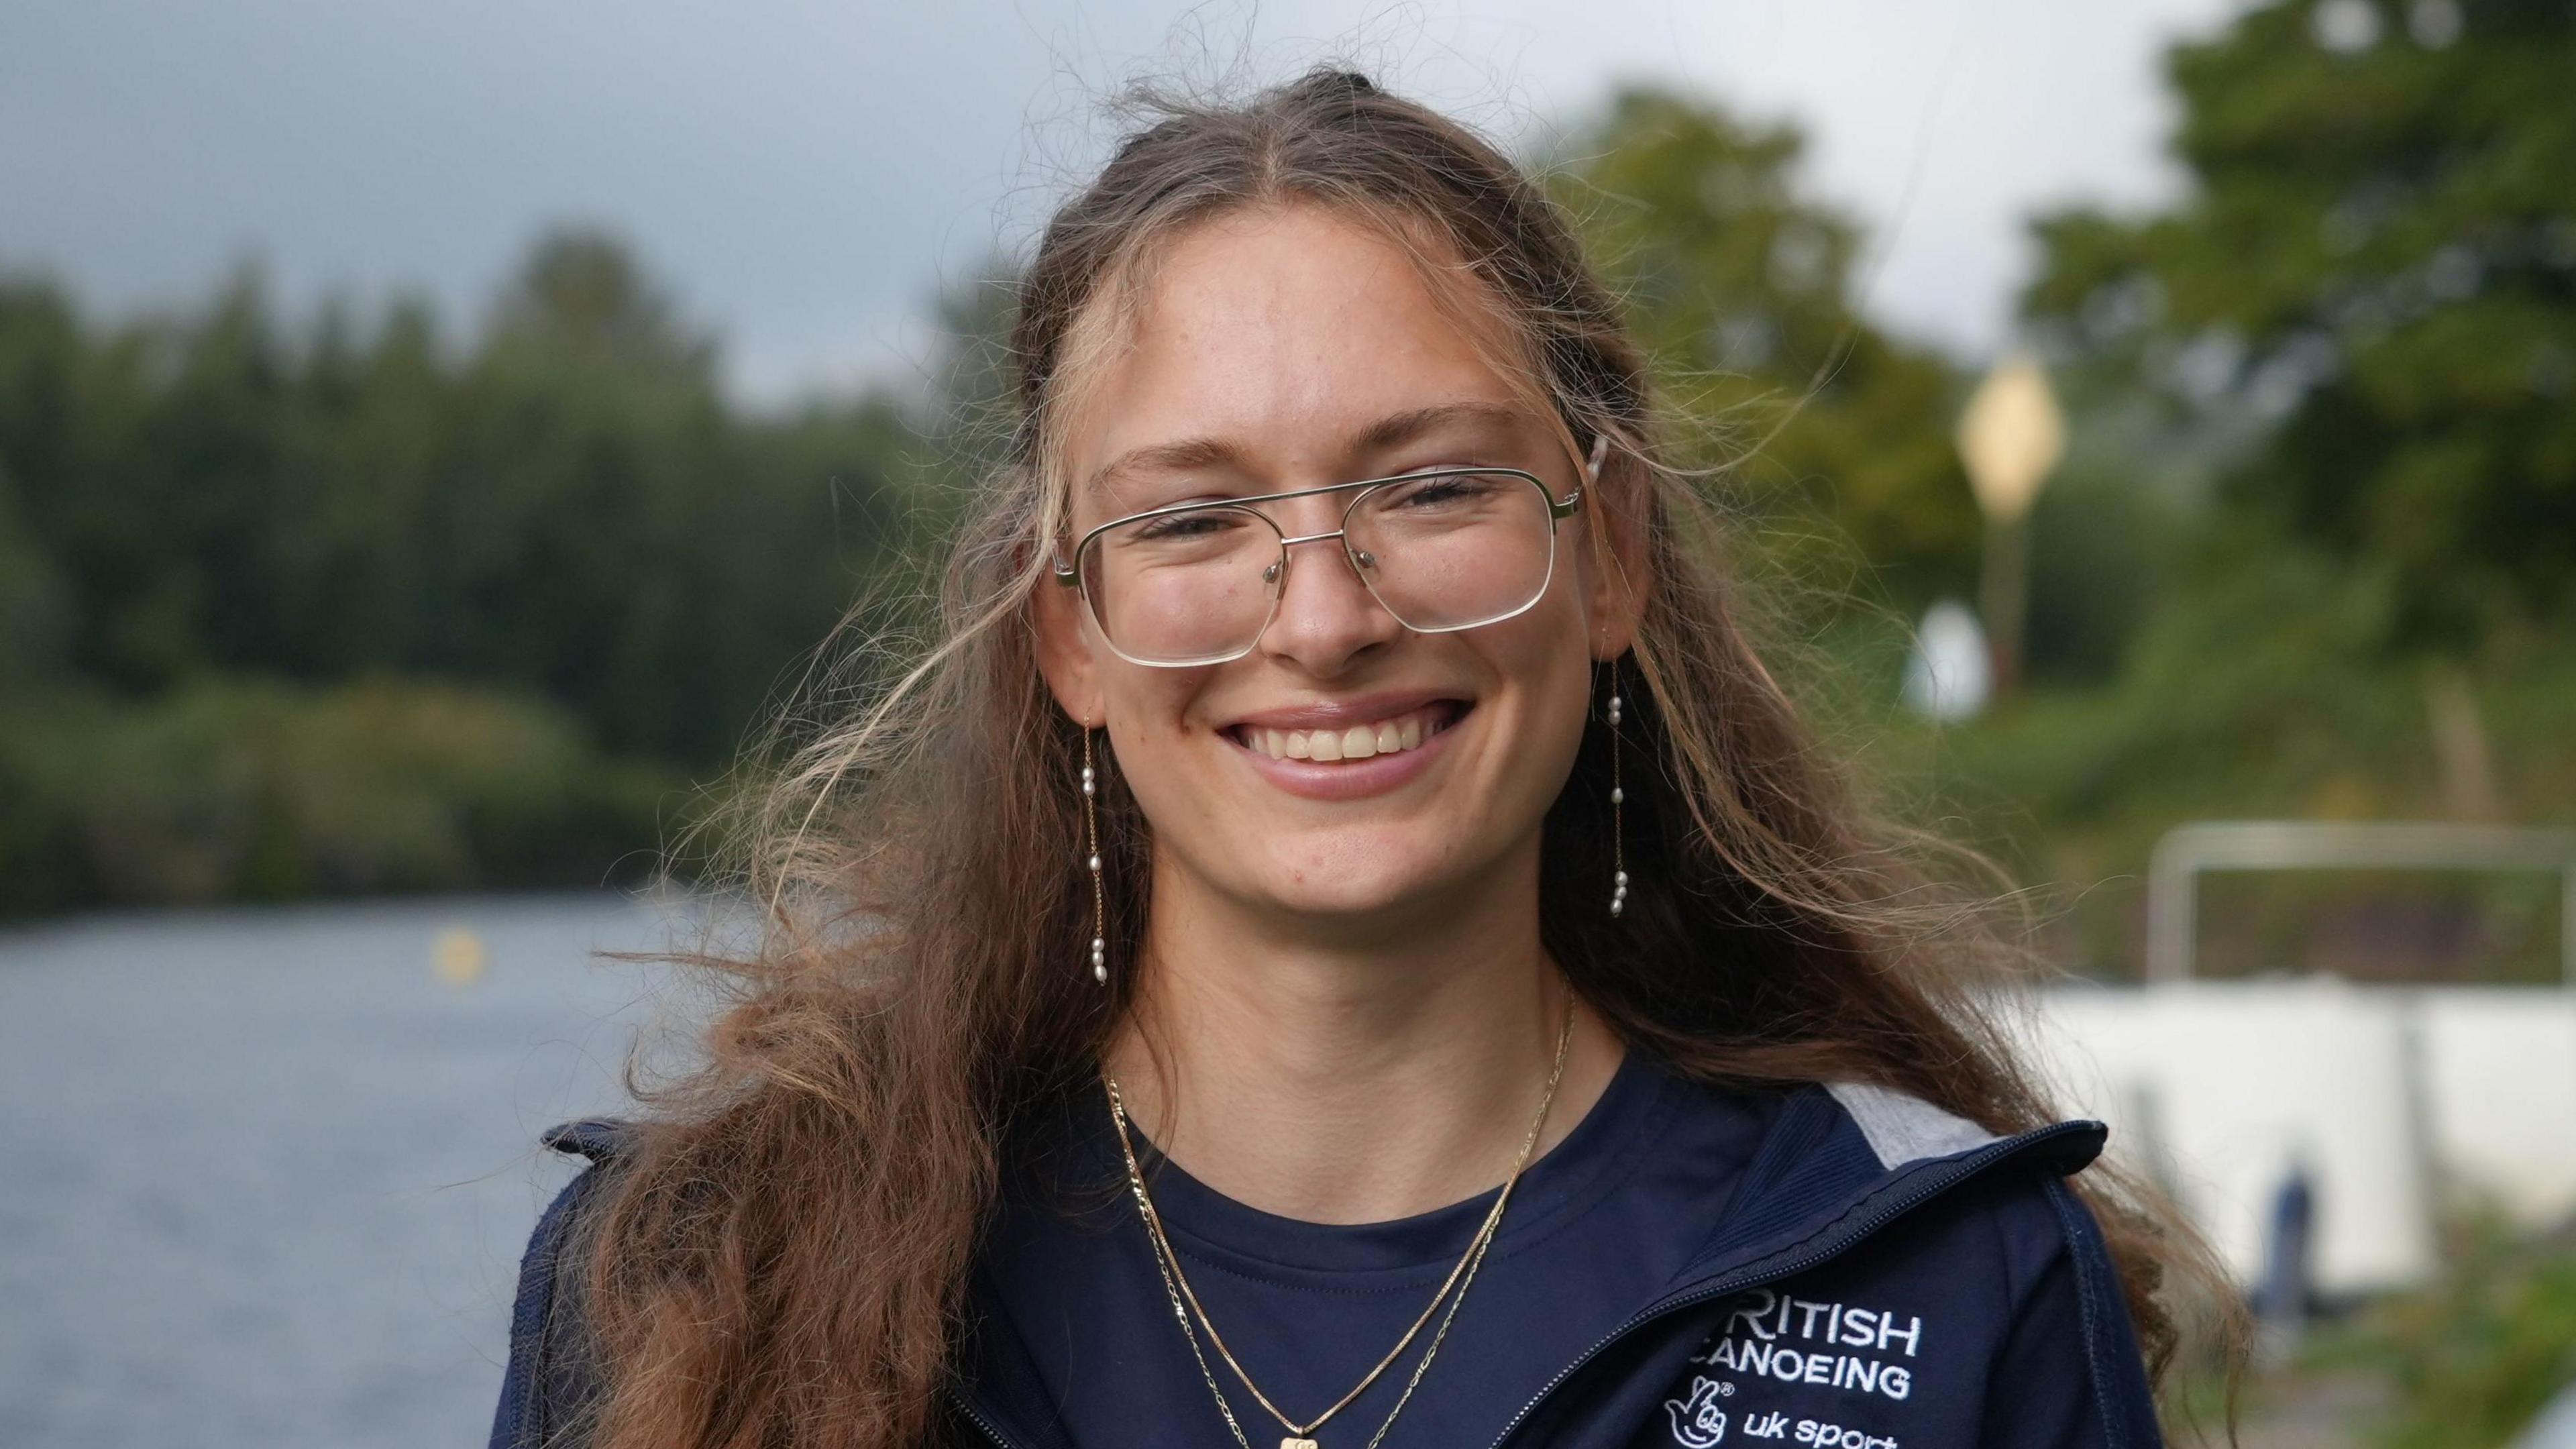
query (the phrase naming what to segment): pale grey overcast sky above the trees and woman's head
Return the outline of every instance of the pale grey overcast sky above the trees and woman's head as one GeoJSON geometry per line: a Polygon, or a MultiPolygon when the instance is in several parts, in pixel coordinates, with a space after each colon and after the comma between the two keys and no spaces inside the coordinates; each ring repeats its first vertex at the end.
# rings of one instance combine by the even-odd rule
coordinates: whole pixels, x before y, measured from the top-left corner
{"type": "Polygon", "coordinates": [[[631,240],[755,400],[902,376],[943,278],[1025,237],[1139,72],[1319,57],[1497,131],[1620,80],[1811,134],[1873,312],[1991,351],[2022,219],[2169,196],[2161,49],[2236,0],[80,0],[0,5],[0,268],[103,312],[245,258],[289,304],[479,315],[531,237],[631,240]]]}

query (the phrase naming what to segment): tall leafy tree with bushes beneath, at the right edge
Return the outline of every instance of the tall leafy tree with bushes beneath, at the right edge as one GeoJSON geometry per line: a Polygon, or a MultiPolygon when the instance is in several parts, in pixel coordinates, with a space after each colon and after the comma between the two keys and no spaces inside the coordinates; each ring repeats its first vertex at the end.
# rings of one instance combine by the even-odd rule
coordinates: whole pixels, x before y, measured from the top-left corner
{"type": "MultiPolygon", "coordinates": [[[[2063,954],[2110,969],[2184,820],[2576,812],[2576,13],[2272,0],[2169,75],[2184,199],[2038,222],[2076,423],[2040,688],[1896,735],[2025,879],[2089,887],[2063,954]]],[[[2524,884],[2221,882],[2202,957],[2543,980],[2524,884]]]]}

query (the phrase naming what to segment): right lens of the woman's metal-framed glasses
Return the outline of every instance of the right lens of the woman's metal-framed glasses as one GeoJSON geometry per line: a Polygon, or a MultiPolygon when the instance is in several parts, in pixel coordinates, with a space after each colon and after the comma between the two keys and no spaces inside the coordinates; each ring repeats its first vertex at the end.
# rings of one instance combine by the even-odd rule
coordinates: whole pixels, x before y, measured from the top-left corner
{"type": "Polygon", "coordinates": [[[1548,590],[1556,529],[1543,487],[1517,472],[1391,482],[1345,521],[1360,578],[1406,629],[1471,629],[1548,590]]]}

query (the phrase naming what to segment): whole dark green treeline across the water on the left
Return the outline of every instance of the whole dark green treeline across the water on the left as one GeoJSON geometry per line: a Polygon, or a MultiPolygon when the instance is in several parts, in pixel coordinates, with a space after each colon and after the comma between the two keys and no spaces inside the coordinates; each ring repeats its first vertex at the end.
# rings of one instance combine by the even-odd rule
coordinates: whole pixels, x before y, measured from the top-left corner
{"type": "Polygon", "coordinates": [[[631,781],[726,763],[938,518],[917,407],[747,415],[714,361],[595,235],[464,348],[258,273],[116,327],[0,284],[0,910],[649,851],[631,781]]]}

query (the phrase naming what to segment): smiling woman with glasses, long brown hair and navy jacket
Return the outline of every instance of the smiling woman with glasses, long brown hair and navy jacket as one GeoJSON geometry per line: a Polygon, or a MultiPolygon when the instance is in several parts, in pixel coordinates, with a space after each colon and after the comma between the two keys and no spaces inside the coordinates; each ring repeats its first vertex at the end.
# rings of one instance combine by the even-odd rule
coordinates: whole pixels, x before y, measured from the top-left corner
{"type": "Polygon", "coordinates": [[[497,1446],[2156,1441],[2179,1248],[2069,1181],[1528,178],[1347,72],[1175,108],[1012,343],[706,1070],[554,1137],[497,1446]]]}

